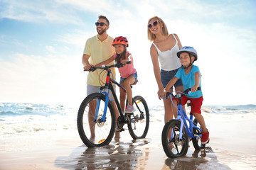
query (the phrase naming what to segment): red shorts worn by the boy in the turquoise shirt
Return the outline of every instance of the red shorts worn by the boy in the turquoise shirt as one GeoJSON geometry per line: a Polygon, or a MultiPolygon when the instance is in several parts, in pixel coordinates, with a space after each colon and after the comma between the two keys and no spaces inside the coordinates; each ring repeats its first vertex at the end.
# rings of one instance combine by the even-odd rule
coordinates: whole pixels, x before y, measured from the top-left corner
{"type": "MultiPolygon", "coordinates": [[[[174,99],[174,98],[173,98],[174,99]]],[[[178,102],[178,99],[175,98],[176,101],[178,102]]],[[[191,101],[191,113],[199,113],[201,114],[201,106],[203,104],[203,96],[200,98],[188,98],[187,96],[182,96],[181,98],[181,104],[182,106],[186,105],[186,102],[190,100],[191,101]]]]}

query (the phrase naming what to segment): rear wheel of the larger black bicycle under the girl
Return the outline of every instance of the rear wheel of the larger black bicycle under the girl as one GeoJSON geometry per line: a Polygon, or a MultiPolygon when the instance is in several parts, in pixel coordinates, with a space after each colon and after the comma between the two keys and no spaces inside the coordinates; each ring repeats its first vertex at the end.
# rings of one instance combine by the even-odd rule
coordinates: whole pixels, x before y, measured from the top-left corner
{"type": "Polygon", "coordinates": [[[126,114],[129,120],[127,126],[132,138],[134,140],[138,140],[145,138],[149,131],[149,108],[142,96],[135,96],[132,103],[135,108],[135,112],[132,114],[126,114]]]}

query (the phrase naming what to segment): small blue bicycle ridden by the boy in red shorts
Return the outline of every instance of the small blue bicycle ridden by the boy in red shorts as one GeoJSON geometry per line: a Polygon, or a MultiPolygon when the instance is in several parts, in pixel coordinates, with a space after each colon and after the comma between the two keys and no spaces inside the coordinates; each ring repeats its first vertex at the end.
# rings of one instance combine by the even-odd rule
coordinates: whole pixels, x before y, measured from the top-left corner
{"type": "MultiPolygon", "coordinates": [[[[201,90],[201,87],[198,87],[198,90],[201,90]]],[[[190,93],[191,89],[187,89],[184,93],[180,91],[173,91],[166,94],[166,97],[171,96],[171,102],[174,106],[175,104],[172,98],[178,99],[177,118],[169,120],[169,122],[164,125],[161,136],[164,152],[169,158],[185,156],[188,152],[188,142],[190,142],[190,140],[192,140],[193,147],[195,149],[203,149],[206,146],[206,144],[201,144],[202,130],[200,125],[198,125],[198,121],[196,118],[193,120],[192,114],[190,115],[190,118],[188,118],[181,105],[181,97],[184,94],[190,93]],[[174,92],[176,92],[176,95],[174,95],[174,92]],[[187,124],[187,122],[189,124],[187,124]]]]}

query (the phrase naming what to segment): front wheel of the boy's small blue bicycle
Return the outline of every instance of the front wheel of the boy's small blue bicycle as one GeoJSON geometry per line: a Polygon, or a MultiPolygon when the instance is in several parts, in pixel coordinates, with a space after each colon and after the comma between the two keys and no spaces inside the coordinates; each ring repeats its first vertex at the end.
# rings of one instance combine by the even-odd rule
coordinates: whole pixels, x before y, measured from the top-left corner
{"type": "Polygon", "coordinates": [[[169,122],[164,125],[161,141],[164,152],[169,158],[183,157],[188,152],[188,133],[185,126],[183,126],[182,141],[179,141],[180,128],[181,122],[179,120],[169,120],[169,122]],[[171,135],[171,132],[174,133],[171,135]],[[169,138],[171,138],[171,140],[169,140],[169,138]]]}

